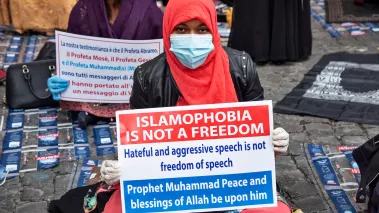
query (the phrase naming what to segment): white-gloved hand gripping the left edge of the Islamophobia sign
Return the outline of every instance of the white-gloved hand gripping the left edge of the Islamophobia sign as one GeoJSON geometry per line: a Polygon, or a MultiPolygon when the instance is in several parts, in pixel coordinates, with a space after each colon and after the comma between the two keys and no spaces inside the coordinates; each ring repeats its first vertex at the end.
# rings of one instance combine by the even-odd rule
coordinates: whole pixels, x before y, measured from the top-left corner
{"type": "Polygon", "coordinates": [[[101,164],[101,176],[108,185],[115,185],[120,182],[120,164],[115,160],[105,160],[101,164]]]}

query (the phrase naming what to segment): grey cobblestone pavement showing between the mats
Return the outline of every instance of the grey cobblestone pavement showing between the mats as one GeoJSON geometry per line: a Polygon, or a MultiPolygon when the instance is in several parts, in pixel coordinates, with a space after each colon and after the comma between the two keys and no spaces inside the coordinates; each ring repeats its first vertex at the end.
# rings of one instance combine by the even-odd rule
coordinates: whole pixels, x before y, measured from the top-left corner
{"type": "MultiPolygon", "coordinates": [[[[379,36],[331,38],[322,27],[313,22],[314,50],[309,60],[281,66],[259,67],[260,79],[266,99],[274,103],[281,100],[303,78],[303,75],[327,53],[349,51],[367,47],[378,53],[379,36]]],[[[0,87],[4,94],[4,87],[0,87]]],[[[277,158],[277,179],[287,194],[291,205],[306,213],[333,212],[328,198],[320,193],[309,170],[303,144],[360,145],[379,133],[379,126],[333,122],[314,117],[275,115],[275,126],[285,128],[291,136],[289,154],[277,158]]],[[[91,132],[91,131],[89,131],[91,132]]],[[[7,181],[0,187],[0,213],[44,213],[50,200],[58,199],[67,191],[73,164],[61,162],[52,170],[27,173],[7,181]]]]}

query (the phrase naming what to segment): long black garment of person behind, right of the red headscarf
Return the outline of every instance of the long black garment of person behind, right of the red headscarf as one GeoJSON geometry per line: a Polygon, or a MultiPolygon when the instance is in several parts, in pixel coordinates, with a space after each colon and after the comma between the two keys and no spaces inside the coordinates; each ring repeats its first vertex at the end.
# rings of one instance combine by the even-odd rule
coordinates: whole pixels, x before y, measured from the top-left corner
{"type": "Polygon", "coordinates": [[[298,61],[312,52],[309,0],[233,1],[230,47],[257,63],[298,61]]]}

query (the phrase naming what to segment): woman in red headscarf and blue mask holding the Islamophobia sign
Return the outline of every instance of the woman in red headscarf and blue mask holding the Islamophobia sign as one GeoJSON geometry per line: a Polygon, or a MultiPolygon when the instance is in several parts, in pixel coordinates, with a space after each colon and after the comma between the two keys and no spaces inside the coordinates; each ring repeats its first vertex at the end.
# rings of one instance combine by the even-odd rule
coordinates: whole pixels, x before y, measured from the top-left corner
{"type": "MultiPolygon", "coordinates": [[[[135,70],[132,109],[263,100],[250,56],[221,46],[212,0],[170,0],[163,18],[163,40],[165,53],[135,70]]],[[[284,154],[288,133],[275,129],[273,144],[277,155],[284,154]]],[[[107,184],[118,186],[118,161],[104,161],[101,175],[107,184]]],[[[117,189],[104,213],[121,213],[121,199],[117,189]]],[[[245,212],[290,213],[290,207],[280,196],[278,199],[277,207],[245,212]]]]}

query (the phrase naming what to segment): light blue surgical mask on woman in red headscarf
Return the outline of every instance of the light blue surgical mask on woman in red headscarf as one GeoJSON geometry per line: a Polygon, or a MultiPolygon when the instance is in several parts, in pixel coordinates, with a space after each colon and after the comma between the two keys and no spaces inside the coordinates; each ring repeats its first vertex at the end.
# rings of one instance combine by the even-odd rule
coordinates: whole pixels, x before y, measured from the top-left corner
{"type": "Polygon", "coordinates": [[[171,48],[178,60],[190,69],[200,67],[214,50],[211,34],[173,34],[170,36],[171,48]]]}

